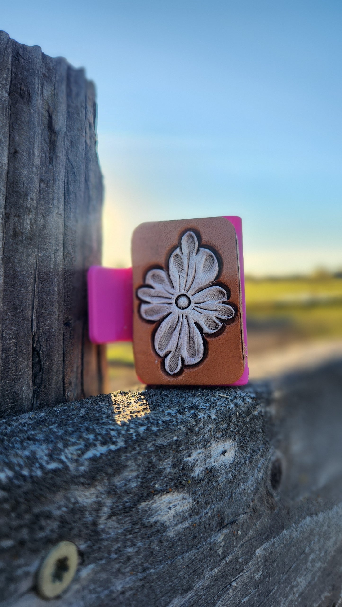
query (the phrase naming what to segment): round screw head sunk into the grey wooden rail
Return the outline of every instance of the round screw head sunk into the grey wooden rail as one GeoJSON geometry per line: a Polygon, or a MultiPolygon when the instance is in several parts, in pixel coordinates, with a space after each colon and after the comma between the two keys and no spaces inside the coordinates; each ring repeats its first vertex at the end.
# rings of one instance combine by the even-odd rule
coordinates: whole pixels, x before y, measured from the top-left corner
{"type": "Polygon", "coordinates": [[[37,592],[43,599],[58,597],[72,582],[78,566],[78,550],[72,541],[60,541],[50,549],[37,574],[37,592]]]}

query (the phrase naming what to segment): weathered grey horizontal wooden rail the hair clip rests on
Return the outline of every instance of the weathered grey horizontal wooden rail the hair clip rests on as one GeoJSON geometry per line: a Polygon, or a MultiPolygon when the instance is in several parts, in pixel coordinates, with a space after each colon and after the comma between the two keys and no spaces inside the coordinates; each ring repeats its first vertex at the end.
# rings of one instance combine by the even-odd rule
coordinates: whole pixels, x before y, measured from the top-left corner
{"type": "Polygon", "coordinates": [[[1,605],[342,604],[342,362],[277,385],[148,389],[0,422],[1,605]]]}

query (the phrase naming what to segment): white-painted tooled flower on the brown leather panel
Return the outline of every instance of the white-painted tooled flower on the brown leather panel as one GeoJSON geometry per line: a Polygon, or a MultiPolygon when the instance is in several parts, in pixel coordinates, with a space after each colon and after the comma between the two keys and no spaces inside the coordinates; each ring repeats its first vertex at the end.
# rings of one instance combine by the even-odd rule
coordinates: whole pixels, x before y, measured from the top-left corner
{"type": "Polygon", "coordinates": [[[149,270],[137,290],[145,320],[162,320],[154,347],[165,359],[169,375],[182,365],[194,365],[204,354],[203,334],[213,334],[234,316],[227,292],[213,282],[219,272],[216,256],[199,246],[194,232],[186,232],[169,259],[169,271],[149,270]]]}

